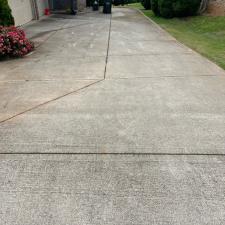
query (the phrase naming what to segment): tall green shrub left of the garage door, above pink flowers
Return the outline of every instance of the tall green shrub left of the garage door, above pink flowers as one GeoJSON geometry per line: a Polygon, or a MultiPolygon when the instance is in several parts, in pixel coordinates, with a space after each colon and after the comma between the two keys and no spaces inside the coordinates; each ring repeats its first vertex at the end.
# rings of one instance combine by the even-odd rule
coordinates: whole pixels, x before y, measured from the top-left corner
{"type": "Polygon", "coordinates": [[[14,25],[14,18],[7,0],[0,0],[0,25],[14,25]]]}

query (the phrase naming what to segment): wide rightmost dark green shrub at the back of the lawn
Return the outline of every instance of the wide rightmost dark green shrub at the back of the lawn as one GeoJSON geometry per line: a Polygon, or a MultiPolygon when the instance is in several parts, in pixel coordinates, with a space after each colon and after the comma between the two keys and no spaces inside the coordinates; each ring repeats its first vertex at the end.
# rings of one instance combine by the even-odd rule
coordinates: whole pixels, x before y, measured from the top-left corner
{"type": "Polygon", "coordinates": [[[174,15],[178,17],[195,15],[201,0],[173,0],[174,15]]]}

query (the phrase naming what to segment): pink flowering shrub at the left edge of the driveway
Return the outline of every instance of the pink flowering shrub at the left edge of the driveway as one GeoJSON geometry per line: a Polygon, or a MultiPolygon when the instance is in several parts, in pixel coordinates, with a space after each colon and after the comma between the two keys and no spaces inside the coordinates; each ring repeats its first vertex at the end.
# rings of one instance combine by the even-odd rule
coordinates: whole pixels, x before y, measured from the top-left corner
{"type": "Polygon", "coordinates": [[[23,30],[0,26],[0,58],[22,57],[34,49],[23,30]]]}

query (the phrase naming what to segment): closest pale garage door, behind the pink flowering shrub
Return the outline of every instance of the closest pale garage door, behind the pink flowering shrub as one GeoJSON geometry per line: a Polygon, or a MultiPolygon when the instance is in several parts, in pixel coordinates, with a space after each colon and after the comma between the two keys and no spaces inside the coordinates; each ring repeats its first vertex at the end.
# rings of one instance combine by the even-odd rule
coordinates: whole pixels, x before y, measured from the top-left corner
{"type": "Polygon", "coordinates": [[[8,0],[16,26],[28,23],[33,19],[31,0],[8,0]]]}

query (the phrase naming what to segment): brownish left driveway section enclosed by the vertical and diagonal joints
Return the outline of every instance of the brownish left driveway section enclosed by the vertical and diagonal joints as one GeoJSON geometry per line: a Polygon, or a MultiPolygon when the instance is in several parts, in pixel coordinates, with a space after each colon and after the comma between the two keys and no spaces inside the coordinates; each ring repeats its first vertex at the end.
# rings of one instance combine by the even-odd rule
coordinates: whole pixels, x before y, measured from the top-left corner
{"type": "Polygon", "coordinates": [[[110,16],[99,17],[53,15],[24,27],[37,47],[1,62],[0,121],[104,78],[110,16]]]}

